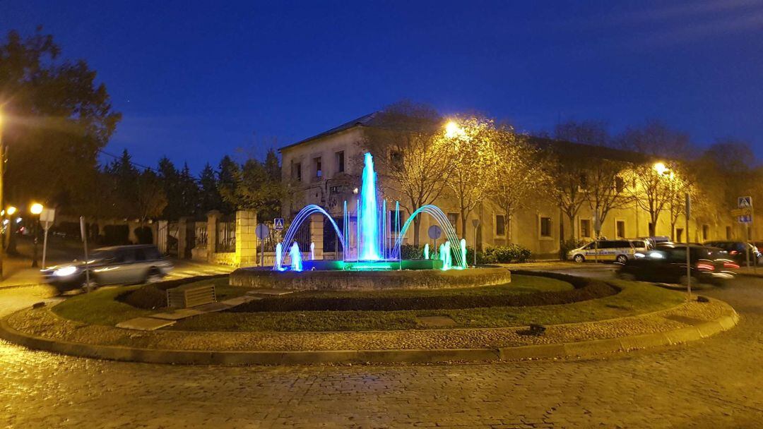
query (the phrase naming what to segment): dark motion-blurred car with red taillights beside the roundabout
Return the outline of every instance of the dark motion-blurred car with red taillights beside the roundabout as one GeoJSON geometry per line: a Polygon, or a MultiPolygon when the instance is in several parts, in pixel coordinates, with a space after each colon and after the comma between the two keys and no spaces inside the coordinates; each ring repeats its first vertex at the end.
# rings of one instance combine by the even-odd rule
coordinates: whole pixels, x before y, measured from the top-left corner
{"type": "MultiPolygon", "coordinates": [[[[687,245],[658,245],[642,257],[632,259],[620,270],[618,277],[623,280],[642,280],[656,283],[687,283],[687,245]]],[[[734,277],[729,271],[739,268],[735,261],[725,258],[718,248],[689,245],[691,252],[692,283],[721,284],[734,277]]]]}

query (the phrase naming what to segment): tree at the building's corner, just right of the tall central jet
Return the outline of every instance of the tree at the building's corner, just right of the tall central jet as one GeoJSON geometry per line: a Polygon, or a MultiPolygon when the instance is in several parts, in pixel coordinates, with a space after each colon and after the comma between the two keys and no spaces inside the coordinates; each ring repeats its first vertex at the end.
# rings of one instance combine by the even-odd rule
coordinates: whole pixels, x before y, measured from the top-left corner
{"type": "MultiPolygon", "coordinates": [[[[453,146],[443,139],[443,120],[433,108],[401,101],[377,114],[365,130],[363,146],[375,155],[381,185],[401,195],[410,213],[443,194],[455,160],[453,146]]],[[[419,244],[420,216],[414,219],[414,245],[419,244]]]]}

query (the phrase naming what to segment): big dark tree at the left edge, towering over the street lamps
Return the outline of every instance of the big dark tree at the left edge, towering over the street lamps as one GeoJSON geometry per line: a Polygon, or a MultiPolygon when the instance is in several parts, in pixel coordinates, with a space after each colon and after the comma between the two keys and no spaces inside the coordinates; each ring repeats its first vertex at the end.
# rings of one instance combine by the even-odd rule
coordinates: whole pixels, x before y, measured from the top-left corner
{"type": "MultiPolygon", "coordinates": [[[[0,42],[0,107],[8,145],[8,200],[85,200],[94,192],[97,154],[121,119],[84,60],[60,59],[41,29],[11,30],[0,42]]],[[[87,204],[80,204],[85,207],[87,204]]]]}

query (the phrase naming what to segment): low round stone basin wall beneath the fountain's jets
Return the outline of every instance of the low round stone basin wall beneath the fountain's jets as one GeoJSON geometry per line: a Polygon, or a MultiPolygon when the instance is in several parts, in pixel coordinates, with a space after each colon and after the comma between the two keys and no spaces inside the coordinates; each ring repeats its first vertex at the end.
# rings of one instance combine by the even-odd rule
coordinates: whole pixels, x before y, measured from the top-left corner
{"type": "MultiPolygon", "coordinates": [[[[306,271],[272,271],[269,268],[239,268],[230,274],[231,286],[286,290],[388,290],[388,289],[447,289],[456,287],[494,286],[510,283],[511,272],[502,267],[470,268],[468,270],[388,269],[365,271],[368,268],[342,270],[311,270],[308,262],[333,264],[343,261],[305,261],[306,271]],[[309,271],[307,271],[309,270],[309,271]]],[[[432,263],[442,261],[416,260],[402,263],[432,263]]],[[[343,262],[363,264],[363,262],[343,262]]],[[[383,262],[375,261],[374,264],[383,262]]],[[[398,265],[397,261],[386,264],[398,265]]]]}

